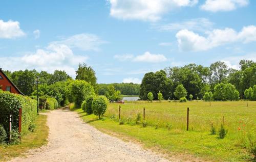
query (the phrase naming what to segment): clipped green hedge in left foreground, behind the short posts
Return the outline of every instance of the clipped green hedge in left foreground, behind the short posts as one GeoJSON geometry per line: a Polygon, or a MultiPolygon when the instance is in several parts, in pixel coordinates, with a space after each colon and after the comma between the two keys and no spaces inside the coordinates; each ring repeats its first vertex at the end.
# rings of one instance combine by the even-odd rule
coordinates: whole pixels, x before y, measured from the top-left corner
{"type": "Polygon", "coordinates": [[[13,114],[12,129],[18,129],[18,108],[22,107],[22,135],[34,125],[37,115],[37,102],[27,96],[0,91],[0,125],[9,131],[9,113],[13,114]]]}

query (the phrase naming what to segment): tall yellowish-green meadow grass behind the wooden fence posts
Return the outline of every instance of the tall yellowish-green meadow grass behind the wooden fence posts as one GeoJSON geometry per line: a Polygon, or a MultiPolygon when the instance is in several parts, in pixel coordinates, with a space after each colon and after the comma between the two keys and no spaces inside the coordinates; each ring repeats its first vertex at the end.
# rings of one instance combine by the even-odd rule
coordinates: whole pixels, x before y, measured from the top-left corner
{"type": "MultiPolygon", "coordinates": [[[[118,118],[118,103],[110,103],[106,117],[115,116],[118,118]]],[[[124,121],[135,120],[138,113],[143,114],[145,107],[145,119],[147,125],[165,128],[170,124],[175,129],[186,129],[187,107],[189,107],[189,130],[210,131],[211,125],[224,126],[230,133],[241,134],[241,131],[248,131],[255,126],[256,101],[250,101],[249,106],[243,101],[189,101],[186,103],[177,102],[146,102],[133,101],[121,104],[121,119],[124,121]]]]}

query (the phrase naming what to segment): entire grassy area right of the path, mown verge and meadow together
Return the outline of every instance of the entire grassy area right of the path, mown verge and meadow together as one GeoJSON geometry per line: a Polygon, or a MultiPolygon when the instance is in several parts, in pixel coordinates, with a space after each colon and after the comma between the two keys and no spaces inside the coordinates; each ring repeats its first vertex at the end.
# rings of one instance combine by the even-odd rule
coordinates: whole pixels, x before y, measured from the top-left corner
{"type": "MultiPolygon", "coordinates": [[[[86,115],[80,109],[76,111],[84,121],[100,130],[133,138],[146,147],[157,148],[167,154],[191,154],[214,161],[253,161],[252,154],[245,146],[248,133],[251,132],[254,137],[256,133],[256,101],[248,101],[248,104],[246,107],[244,101],[211,102],[211,106],[204,101],[177,102],[177,105],[167,101],[133,101],[121,104],[121,120],[124,125],[118,122],[117,103],[109,104],[103,120],[97,120],[94,115],[86,115]],[[142,118],[143,107],[147,122],[145,128],[135,124],[139,113],[142,118]],[[187,107],[190,109],[189,131],[186,131],[187,107]],[[224,139],[219,139],[218,129],[223,116],[228,133],[224,139]],[[217,129],[216,135],[210,135],[212,123],[217,129]]],[[[255,144],[255,138],[253,140],[255,144]]]]}

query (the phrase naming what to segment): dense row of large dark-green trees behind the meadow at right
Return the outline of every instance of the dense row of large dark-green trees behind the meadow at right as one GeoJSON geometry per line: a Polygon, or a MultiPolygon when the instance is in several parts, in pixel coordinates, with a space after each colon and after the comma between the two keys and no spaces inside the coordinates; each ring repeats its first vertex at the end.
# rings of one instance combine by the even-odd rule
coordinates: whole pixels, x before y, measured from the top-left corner
{"type": "Polygon", "coordinates": [[[243,99],[246,98],[245,90],[253,89],[256,85],[256,63],[241,60],[239,65],[240,70],[236,70],[218,61],[209,67],[188,64],[183,67],[167,67],[155,73],[148,72],[140,85],[140,98],[147,100],[147,94],[152,92],[157,100],[157,94],[161,92],[164,99],[180,99],[175,91],[182,85],[187,98],[192,96],[193,99],[203,99],[206,92],[211,92],[215,100],[243,99]]]}

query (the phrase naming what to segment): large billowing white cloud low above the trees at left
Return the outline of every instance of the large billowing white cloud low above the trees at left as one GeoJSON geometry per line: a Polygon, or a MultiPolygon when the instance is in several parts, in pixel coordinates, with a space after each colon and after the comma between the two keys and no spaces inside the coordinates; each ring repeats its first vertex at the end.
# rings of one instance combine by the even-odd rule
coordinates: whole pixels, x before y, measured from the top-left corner
{"type": "Polygon", "coordinates": [[[65,70],[74,77],[74,66],[77,66],[80,62],[86,62],[87,59],[86,56],[74,55],[67,45],[49,44],[45,49],[37,49],[36,52],[23,57],[2,57],[0,62],[3,69],[11,71],[36,69],[53,73],[54,70],[65,70]]]}

